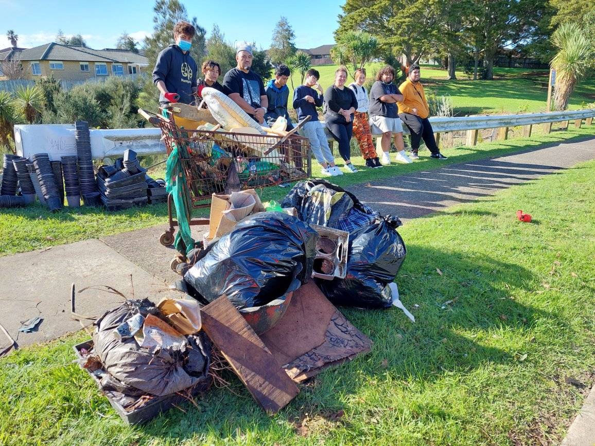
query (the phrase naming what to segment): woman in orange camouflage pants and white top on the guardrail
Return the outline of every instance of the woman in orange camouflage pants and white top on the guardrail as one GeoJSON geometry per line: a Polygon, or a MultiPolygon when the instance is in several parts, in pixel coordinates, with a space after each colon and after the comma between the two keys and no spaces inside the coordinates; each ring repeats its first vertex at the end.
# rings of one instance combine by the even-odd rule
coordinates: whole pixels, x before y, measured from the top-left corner
{"type": "Polygon", "coordinates": [[[366,71],[363,68],[355,71],[355,82],[349,88],[358,100],[358,109],[353,114],[353,136],[358,140],[359,150],[366,162],[366,167],[381,167],[376,148],[372,142],[372,132],[368,123],[369,96],[364,87],[366,71]],[[377,162],[378,161],[378,162],[377,162]]]}

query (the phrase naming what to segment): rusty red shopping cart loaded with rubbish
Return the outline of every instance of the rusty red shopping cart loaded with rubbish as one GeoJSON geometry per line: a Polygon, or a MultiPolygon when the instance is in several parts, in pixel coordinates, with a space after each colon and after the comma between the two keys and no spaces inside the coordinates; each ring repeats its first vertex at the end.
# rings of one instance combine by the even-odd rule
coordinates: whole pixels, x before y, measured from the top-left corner
{"type": "MultiPolygon", "coordinates": [[[[311,176],[309,140],[297,134],[248,134],[228,131],[186,130],[176,124],[171,110],[164,116],[139,110],[161,128],[167,154],[178,148],[181,167],[190,190],[192,209],[210,206],[214,193],[277,186],[311,176]]],[[[297,127],[301,127],[299,123],[297,127]]],[[[168,195],[169,230],[159,238],[164,246],[174,242],[173,197],[168,195]]],[[[190,218],[190,225],[208,225],[208,218],[190,218]]]]}

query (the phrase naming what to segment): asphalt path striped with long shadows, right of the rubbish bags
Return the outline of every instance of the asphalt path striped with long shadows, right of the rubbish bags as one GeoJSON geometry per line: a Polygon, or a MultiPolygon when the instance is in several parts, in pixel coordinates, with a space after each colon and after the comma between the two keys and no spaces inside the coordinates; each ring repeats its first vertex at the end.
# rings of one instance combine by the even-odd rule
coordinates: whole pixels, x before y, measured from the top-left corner
{"type": "Polygon", "coordinates": [[[501,189],[536,180],[594,158],[595,139],[590,139],[447,165],[347,189],[381,214],[398,215],[406,221],[449,206],[474,202],[501,189]]]}

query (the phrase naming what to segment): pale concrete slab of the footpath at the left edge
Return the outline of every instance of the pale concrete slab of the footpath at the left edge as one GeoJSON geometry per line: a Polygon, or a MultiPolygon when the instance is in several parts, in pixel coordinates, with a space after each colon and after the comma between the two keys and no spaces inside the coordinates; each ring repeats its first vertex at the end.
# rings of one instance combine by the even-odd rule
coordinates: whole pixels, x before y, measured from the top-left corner
{"type": "MultiPolygon", "coordinates": [[[[99,240],[0,257],[0,271],[18,271],[0,275],[0,322],[19,346],[49,341],[81,328],[70,318],[72,282],[77,290],[109,285],[127,297],[133,296],[134,286],[134,297],[152,301],[172,293],[162,281],[99,240]],[[37,332],[18,332],[22,321],[35,316],[43,318],[37,332]]],[[[122,301],[116,294],[88,290],[77,293],[76,312],[101,315],[122,301]]]]}

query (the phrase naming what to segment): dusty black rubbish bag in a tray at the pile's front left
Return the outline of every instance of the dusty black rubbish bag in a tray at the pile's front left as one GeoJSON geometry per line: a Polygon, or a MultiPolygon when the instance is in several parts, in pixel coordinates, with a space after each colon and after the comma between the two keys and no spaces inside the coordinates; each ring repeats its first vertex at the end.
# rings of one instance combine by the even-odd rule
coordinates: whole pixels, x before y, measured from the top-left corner
{"type": "Polygon", "coordinates": [[[202,332],[184,337],[184,343],[177,348],[162,348],[154,353],[139,347],[133,337],[116,340],[114,329],[138,313],[145,318],[152,314],[161,319],[161,312],[144,299],[127,300],[95,322],[93,348],[109,373],[102,383],[104,390],[162,396],[209,379],[211,343],[202,332]]]}

